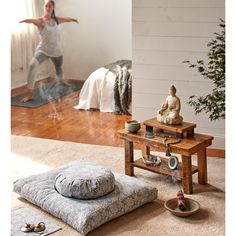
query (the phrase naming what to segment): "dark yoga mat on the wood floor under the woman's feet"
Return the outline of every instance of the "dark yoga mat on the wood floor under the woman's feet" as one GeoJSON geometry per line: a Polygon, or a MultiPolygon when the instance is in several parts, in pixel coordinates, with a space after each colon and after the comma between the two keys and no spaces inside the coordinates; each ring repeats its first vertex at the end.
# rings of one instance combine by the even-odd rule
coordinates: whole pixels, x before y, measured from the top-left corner
{"type": "Polygon", "coordinates": [[[69,82],[69,86],[58,81],[37,88],[33,91],[33,99],[28,102],[20,102],[26,96],[26,93],[11,98],[12,106],[37,108],[58,98],[68,95],[82,88],[82,82],[69,82]]]}

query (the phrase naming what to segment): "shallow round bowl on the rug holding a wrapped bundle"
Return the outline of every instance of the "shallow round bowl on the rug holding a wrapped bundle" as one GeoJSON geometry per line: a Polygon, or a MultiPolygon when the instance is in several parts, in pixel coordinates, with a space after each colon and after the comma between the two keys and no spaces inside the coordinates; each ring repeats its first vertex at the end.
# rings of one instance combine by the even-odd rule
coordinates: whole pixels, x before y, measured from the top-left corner
{"type": "Polygon", "coordinates": [[[175,216],[186,217],[193,215],[200,210],[200,204],[190,198],[185,198],[186,210],[181,211],[178,208],[178,202],[176,198],[171,198],[164,203],[165,208],[175,216]]]}

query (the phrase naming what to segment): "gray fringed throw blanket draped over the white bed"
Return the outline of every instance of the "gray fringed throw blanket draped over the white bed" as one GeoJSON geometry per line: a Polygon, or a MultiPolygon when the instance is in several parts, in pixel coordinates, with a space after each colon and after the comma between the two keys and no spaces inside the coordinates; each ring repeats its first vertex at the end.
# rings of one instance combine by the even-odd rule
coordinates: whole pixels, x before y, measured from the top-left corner
{"type": "Polygon", "coordinates": [[[115,112],[117,114],[130,115],[129,106],[132,101],[132,61],[120,60],[109,65],[105,68],[114,73],[114,99],[115,99],[115,112]]]}

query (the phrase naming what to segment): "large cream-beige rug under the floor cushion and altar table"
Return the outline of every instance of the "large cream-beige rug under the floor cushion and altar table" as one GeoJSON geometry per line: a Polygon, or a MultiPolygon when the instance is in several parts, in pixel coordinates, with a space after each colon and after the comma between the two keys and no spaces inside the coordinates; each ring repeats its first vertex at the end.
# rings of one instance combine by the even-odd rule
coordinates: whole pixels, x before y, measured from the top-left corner
{"type": "MultiPolygon", "coordinates": [[[[108,146],[62,142],[48,139],[12,136],[12,181],[84,159],[124,173],[124,149],[108,146]]],[[[135,156],[140,157],[136,151],[135,156]]],[[[194,160],[196,161],[196,160],[194,160]]],[[[176,196],[181,184],[173,178],[135,169],[135,176],[158,189],[158,200],[99,227],[89,236],[222,236],[225,235],[225,160],[208,158],[208,185],[197,184],[194,175],[194,194],[186,195],[198,201],[201,210],[187,218],[173,216],[164,208],[164,201],[176,196]]],[[[78,236],[77,231],[28,203],[15,193],[12,207],[28,206],[62,230],[55,236],[78,236]]]]}

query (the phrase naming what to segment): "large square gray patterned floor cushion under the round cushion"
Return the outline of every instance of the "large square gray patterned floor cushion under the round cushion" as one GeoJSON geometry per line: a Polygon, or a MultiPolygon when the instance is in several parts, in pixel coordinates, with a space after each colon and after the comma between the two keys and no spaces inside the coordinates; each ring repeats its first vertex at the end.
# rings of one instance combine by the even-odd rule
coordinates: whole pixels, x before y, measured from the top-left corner
{"type": "Polygon", "coordinates": [[[155,187],[135,177],[117,173],[113,173],[114,190],[103,197],[79,200],[58,193],[54,187],[56,176],[68,167],[85,164],[88,162],[74,161],[55,170],[19,179],[14,182],[14,191],[83,235],[157,198],[155,187]]]}

